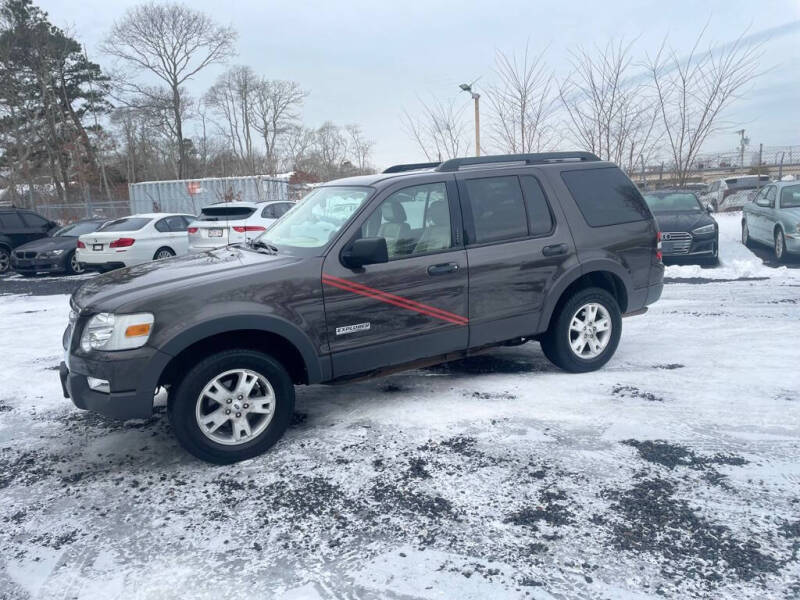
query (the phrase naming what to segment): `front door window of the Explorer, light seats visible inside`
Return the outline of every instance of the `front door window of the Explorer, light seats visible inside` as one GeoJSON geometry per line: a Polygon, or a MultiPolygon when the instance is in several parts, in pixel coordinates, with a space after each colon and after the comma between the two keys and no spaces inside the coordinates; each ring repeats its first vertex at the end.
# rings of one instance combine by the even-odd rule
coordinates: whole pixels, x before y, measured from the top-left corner
{"type": "Polygon", "coordinates": [[[450,248],[446,185],[429,183],[394,192],[361,226],[361,237],[385,238],[390,260],[450,248]]]}

